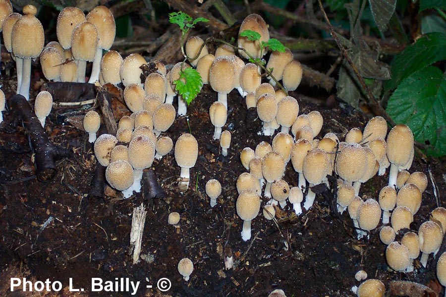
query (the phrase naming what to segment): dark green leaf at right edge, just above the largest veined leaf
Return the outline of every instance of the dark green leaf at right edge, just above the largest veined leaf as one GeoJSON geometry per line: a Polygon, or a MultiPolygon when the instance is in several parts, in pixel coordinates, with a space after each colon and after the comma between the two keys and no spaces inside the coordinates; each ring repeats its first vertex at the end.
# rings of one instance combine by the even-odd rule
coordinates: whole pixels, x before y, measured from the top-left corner
{"type": "Polygon", "coordinates": [[[412,73],[446,59],[445,48],[446,34],[433,32],[418,39],[393,58],[390,64],[392,78],[386,82],[385,90],[393,90],[412,73]]]}

